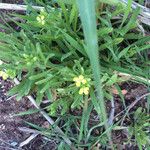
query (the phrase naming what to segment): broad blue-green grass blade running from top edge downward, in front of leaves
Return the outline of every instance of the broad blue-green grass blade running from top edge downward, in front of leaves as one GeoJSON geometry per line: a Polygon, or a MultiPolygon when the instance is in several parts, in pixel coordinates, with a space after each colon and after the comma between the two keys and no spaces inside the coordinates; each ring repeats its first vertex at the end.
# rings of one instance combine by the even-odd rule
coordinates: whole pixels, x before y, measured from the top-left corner
{"type": "MultiPolygon", "coordinates": [[[[101,109],[101,118],[105,122],[105,128],[108,128],[107,114],[105,102],[103,98],[103,91],[100,81],[100,62],[98,58],[98,39],[96,29],[96,13],[95,13],[95,0],[77,0],[80,18],[82,21],[84,37],[86,42],[86,51],[89,56],[91,67],[93,70],[95,89],[101,109]]],[[[110,136],[110,134],[108,134],[110,136]]],[[[109,138],[110,139],[110,138],[109,138]]]]}

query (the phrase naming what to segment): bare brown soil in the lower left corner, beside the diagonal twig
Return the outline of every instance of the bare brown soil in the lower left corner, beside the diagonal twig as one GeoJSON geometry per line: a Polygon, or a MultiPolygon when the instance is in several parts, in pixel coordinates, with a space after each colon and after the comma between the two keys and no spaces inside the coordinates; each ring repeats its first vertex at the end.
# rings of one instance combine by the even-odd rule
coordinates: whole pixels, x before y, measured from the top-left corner
{"type": "Polygon", "coordinates": [[[42,126],[45,119],[39,114],[28,116],[14,116],[19,112],[33,109],[27,99],[16,101],[15,98],[9,98],[6,93],[13,86],[11,81],[3,81],[0,78],[0,150],[9,150],[11,148],[19,150],[52,150],[55,148],[54,141],[45,140],[42,136],[36,137],[28,145],[19,148],[19,144],[27,139],[30,134],[21,132],[19,127],[28,127],[25,121],[32,122],[42,126]],[[36,147],[35,147],[36,145],[36,147]]]}

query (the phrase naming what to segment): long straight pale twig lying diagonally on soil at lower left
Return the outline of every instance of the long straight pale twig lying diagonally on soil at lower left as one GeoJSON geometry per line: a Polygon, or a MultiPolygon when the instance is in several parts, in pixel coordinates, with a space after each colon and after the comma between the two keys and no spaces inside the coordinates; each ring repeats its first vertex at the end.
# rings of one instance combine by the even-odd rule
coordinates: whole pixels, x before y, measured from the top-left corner
{"type": "MultiPolygon", "coordinates": [[[[17,84],[17,85],[20,84],[20,82],[18,81],[17,78],[14,79],[14,82],[15,82],[15,84],[17,84]]],[[[43,111],[43,110],[40,109],[40,107],[36,104],[34,98],[33,98],[31,95],[27,96],[27,98],[28,98],[28,99],[30,100],[30,102],[39,110],[39,112],[43,115],[43,117],[44,117],[51,125],[54,125],[54,124],[55,124],[55,122],[52,120],[52,118],[50,118],[50,117],[47,115],[47,113],[46,113],[45,111],[43,111]]],[[[56,130],[59,134],[62,135],[62,138],[64,139],[64,141],[65,141],[69,146],[72,145],[71,141],[65,136],[64,132],[63,132],[58,126],[55,127],[55,130],[56,130]]]]}

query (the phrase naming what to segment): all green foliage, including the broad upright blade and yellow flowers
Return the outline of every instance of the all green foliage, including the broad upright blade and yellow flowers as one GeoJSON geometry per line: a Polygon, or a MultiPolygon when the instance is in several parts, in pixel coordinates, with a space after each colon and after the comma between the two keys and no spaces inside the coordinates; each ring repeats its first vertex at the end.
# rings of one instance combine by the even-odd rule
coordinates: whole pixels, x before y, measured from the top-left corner
{"type": "MultiPolygon", "coordinates": [[[[29,7],[29,14],[13,15],[22,21],[7,16],[19,31],[9,24],[1,25],[9,30],[0,32],[0,60],[4,62],[0,69],[21,82],[8,94],[17,94],[19,100],[34,93],[38,105],[48,99],[48,114],[60,117],[58,123],[63,124],[61,127],[76,147],[91,148],[97,142],[106,145],[109,129],[103,132],[103,121],[107,119],[105,101],[112,99],[114,86],[124,100],[118,85],[129,80],[118,72],[149,85],[142,79],[150,79],[150,37],[144,37],[137,28],[139,9],[132,12],[129,1],[127,7],[115,3],[114,11],[107,6],[95,14],[93,1],[78,1],[78,5],[67,0],[33,2],[45,9],[38,12],[29,7]],[[116,19],[120,14],[124,14],[123,18],[116,19]],[[79,77],[81,80],[74,81],[79,77]],[[90,126],[93,111],[100,119],[90,126]],[[93,134],[96,128],[103,136],[93,134]]],[[[28,113],[32,111],[24,114],[28,113]]],[[[137,123],[133,128],[139,131],[139,126],[137,123]]],[[[61,142],[59,149],[65,148],[61,142]]]]}

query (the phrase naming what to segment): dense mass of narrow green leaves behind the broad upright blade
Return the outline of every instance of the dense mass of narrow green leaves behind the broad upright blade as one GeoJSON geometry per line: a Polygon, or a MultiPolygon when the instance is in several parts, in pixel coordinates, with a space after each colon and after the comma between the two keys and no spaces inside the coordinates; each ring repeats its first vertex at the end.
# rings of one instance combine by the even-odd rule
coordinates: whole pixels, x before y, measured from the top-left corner
{"type": "MultiPolygon", "coordinates": [[[[10,95],[18,94],[17,99],[34,92],[39,105],[43,98],[57,103],[53,98],[56,91],[58,99],[67,96],[71,102],[68,107],[80,107],[83,104],[83,96],[78,94],[79,89],[74,85],[73,77],[82,74],[81,68],[87,78],[92,79],[93,74],[83,41],[79,13],[75,2],[57,1],[55,4],[57,7],[45,6],[40,12],[29,8],[30,14],[14,14],[23,20],[21,22],[7,16],[21,31],[15,31],[7,23],[5,27],[2,26],[7,29],[7,33],[0,33],[0,59],[6,62],[1,68],[14,70],[21,81],[20,85],[9,92],[10,95]],[[39,15],[44,16],[43,25],[37,20],[39,15]],[[81,59],[81,67],[77,69],[79,62],[76,60],[81,59]],[[75,93],[77,94],[74,96],[75,93]]],[[[112,98],[109,92],[111,86],[121,82],[114,71],[149,78],[144,67],[147,66],[148,58],[144,53],[150,46],[146,44],[150,37],[143,37],[136,28],[139,10],[132,12],[128,20],[127,9],[118,5],[113,12],[108,7],[96,14],[98,57],[101,60],[102,86],[107,99],[112,98]],[[123,13],[124,17],[114,19],[120,13],[123,13]]],[[[93,82],[91,84],[93,88],[93,82]]],[[[66,100],[61,101],[63,103],[66,100]]]]}

